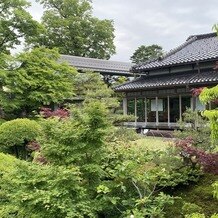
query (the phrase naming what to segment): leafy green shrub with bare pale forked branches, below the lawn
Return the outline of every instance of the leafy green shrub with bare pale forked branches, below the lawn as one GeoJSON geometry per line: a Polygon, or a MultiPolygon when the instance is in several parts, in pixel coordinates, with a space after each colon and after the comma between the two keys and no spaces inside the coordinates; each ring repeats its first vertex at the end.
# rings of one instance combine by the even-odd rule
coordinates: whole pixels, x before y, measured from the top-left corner
{"type": "Polygon", "coordinates": [[[99,196],[107,202],[104,212],[111,215],[116,206],[126,216],[163,217],[165,206],[173,199],[159,190],[199,178],[197,170],[185,166],[182,158],[174,155],[173,151],[144,151],[127,142],[115,143],[103,163],[108,179],[102,183],[109,190],[99,196]]]}

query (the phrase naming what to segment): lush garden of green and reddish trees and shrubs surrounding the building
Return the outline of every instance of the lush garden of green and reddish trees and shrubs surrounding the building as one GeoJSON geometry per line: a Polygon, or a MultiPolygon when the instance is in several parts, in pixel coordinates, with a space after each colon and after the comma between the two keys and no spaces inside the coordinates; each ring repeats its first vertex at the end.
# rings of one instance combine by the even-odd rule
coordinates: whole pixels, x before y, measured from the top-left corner
{"type": "MultiPolygon", "coordinates": [[[[124,128],[135,118],[101,75],[59,61],[108,59],[113,22],[90,1],[38,2],[41,23],[0,2],[0,217],[217,218],[218,111],[187,110],[171,139],[124,128]]],[[[200,99],[217,104],[218,86],[200,99]]]]}

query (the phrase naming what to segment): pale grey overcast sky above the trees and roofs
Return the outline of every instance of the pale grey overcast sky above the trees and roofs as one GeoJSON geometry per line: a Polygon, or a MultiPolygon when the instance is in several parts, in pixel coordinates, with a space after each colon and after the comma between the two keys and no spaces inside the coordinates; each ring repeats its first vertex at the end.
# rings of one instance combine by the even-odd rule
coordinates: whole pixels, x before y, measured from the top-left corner
{"type": "MultiPolygon", "coordinates": [[[[39,20],[42,7],[31,0],[32,16],[39,20]]],[[[114,21],[116,55],[129,61],[140,45],[161,45],[165,51],[188,36],[212,32],[218,23],[218,0],[93,0],[94,16],[114,21]]]]}

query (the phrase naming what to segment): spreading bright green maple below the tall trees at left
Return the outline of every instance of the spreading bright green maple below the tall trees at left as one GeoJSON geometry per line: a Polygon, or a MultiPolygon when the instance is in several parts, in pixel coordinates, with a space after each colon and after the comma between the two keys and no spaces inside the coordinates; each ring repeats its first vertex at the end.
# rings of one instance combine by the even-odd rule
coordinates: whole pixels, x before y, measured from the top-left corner
{"type": "Polygon", "coordinates": [[[62,103],[73,96],[76,70],[58,63],[56,49],[36,48],[24,52],[2,71],[1,107],[26,117],[42,105],[62,103]]]}

